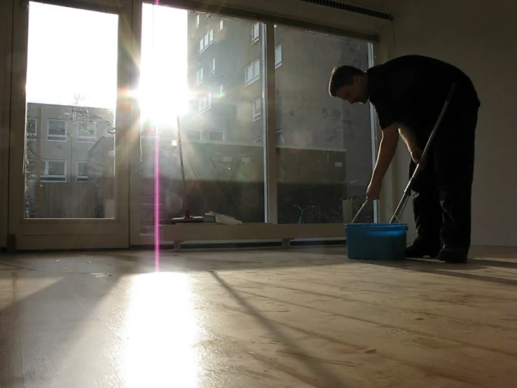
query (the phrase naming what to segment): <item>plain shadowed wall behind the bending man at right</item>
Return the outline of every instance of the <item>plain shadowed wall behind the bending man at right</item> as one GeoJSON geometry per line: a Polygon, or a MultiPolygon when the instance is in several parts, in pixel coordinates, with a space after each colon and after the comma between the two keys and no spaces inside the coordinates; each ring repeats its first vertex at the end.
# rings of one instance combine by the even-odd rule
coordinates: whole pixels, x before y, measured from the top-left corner
{"type": "MultiPolygon", "coordinates": [[[[387,6],[395,18],[395,55],[438,57],[460,67],[474,81],[481,109],[472,244],[516,246],[517,1],[387,0],[387,6]]],[[[408,160],[407,152],[397,159],[401,194],[408,160]]],[[[411,202],[404,221],[413,226],[411,202]]]]}

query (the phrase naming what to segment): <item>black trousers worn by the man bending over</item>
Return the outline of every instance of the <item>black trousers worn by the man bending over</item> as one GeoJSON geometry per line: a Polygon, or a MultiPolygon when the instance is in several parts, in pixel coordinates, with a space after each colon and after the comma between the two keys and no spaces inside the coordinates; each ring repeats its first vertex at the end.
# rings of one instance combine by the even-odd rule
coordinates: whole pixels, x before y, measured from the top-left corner
{"type": "MultiPolygon", "coordinates": [[[[430,247],[469,251],[477,118],[478,106],[451,104],[430,145],[427,161],[413,181],[417,238],[430,247]]],[[[418,139],[422,150],[427,139],[427,134],[418,139]]],[[[411,160],[410,177],[415,167],[411,160]]]]}

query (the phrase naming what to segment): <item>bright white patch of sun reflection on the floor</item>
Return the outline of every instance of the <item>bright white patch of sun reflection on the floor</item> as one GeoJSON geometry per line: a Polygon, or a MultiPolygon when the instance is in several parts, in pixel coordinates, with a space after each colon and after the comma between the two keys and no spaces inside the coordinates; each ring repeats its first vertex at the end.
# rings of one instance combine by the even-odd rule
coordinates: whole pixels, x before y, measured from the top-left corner
{"type": "Polygon", "coordinates": [[[134,277],[125,321],[120,363],[126,387],[198,387],[199,328],[189,275],[134,277]]]}

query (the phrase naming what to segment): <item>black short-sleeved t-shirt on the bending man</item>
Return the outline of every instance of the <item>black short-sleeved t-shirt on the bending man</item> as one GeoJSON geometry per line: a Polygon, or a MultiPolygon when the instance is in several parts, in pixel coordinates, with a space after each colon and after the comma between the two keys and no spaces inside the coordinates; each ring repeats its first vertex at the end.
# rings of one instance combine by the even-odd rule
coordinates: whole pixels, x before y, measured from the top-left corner
{"type": "Polygon", "coordinates": [[[379,125],[395,121],[417,132],[436,122],[453,81],[458,82],[448,111],[477,109],[480,102],[470,78],[451,64],[422,55],[404,55],[367,70],[369,99],[379,125]]]}

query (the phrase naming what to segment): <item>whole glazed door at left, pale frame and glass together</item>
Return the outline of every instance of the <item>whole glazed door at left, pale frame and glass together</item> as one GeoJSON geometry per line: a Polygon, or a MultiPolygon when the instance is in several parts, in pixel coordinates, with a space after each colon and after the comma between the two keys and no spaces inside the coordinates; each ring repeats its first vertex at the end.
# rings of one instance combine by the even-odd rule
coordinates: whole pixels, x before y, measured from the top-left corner
{"type": "Polygon", "coordinates": [[[15,7],[10,242],[127,247],[131,8],[59,4],[15,7]]]}

